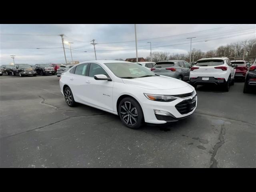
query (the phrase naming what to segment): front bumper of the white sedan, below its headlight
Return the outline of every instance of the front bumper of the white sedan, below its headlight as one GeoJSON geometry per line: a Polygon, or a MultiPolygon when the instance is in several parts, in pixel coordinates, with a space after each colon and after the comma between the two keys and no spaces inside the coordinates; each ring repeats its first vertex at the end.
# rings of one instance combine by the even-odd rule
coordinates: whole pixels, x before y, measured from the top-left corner
{"type": "MultiPolygon", "coordinates": [[[[189,106],[185,106],[189,107],[189,106]]],[[[144,100],[142,103],[142,109],[144,113],[144,120],[146,123],[152,123],[152,124],[165,124],[167,122],[175,122],[183,118],[187,118],[188,116],[192,115],[197,107],[197,96],[196,92],[188,98],[177,98],[176,100],[172,102],[157,102],[152,101],[149,99],[144,100]],[[179,111],[180,109],[177,107],[177,105],[182,104],[182,102],[186,100],[195,100],[192,108],[188,110],[187,113],[182,112],[181,114],[179,111]],[[167,112],[168,115],[162,116],[159,114],[156,114],[156,111],[164,111],[167,112]]]]}

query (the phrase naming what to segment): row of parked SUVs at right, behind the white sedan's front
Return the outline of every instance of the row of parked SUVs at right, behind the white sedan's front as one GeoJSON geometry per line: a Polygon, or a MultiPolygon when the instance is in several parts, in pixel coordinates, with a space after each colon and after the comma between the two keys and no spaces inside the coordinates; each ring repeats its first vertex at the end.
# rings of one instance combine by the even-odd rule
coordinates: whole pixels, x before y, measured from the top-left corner
{"type": "Polygon", "coordinates": [[[244,60],[232,60],[227,57],[202,58],[194,63],[184,60],[157,62],[151,71],[156,74],[189,81],[194,88],[198,85],[215,84],[229,91],[235,78],[245,80],[244,93],[256,88],[255,62],[252,66],[244,60]],[[192,66],[190,65],[192,64],[192,66]],[[249,66],[249,67],[248,67],[249,66]],[[246,78],[247,77],[247,78],[246,78]]]}

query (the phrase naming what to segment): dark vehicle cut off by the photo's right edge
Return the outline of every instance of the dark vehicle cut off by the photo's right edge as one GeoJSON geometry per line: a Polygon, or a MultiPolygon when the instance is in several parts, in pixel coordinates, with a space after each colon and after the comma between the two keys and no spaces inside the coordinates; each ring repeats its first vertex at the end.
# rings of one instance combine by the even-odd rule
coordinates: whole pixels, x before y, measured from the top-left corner
{"type": "Polygon", "coordinates": [[[245,75],[244,93],[249,93],[251,90],[256,90],[256,60],[245,75]]]}

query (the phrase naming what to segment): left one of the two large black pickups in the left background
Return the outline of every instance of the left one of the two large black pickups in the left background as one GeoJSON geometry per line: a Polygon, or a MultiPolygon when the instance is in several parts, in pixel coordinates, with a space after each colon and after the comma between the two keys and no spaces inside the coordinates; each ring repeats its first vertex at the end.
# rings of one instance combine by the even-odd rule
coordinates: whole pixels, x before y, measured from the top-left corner
{"type": "Polygon", "coordinates": [[[19,75],[20,77],[25,75],[36,76],[36,71],[29,64],[15,64],[14,67],[12,67],[12,75],[19,75]]]}

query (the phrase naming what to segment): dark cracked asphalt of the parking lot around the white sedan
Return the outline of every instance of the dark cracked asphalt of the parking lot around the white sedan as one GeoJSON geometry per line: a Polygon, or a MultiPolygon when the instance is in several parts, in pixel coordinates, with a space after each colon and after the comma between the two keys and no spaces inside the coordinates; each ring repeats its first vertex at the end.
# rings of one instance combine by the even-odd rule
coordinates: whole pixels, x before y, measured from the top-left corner
{"type": "Polygon", "coordinates": [[[1,164],[18,168],[255,168],[256,94],[198,86],[196,112],[132,130],[89,106],[70,108],[56,76],[1,76],[1,164]]]}

